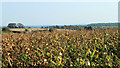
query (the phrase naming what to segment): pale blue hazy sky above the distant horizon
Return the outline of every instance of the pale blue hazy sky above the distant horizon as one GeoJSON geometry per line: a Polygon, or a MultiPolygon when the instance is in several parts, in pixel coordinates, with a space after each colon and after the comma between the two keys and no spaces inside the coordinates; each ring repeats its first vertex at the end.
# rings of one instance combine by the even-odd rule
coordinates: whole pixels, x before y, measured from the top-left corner
{"type": "MultiPolygon", "coordinates": [[[[112,1],[112,0],[111,0],[112,1]]],[[[118,21],[117,2],[3,2],[2,25],[67,25],[118,21]]]]}

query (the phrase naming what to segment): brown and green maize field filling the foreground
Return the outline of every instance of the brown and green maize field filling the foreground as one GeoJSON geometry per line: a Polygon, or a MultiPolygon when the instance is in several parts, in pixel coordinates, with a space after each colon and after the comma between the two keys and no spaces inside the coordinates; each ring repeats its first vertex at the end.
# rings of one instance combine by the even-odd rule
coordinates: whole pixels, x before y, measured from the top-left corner
{"type": "Polygon", "coordinates": [[[2,67],[120,66],[118,28],[2,34],[2,67]]]}

